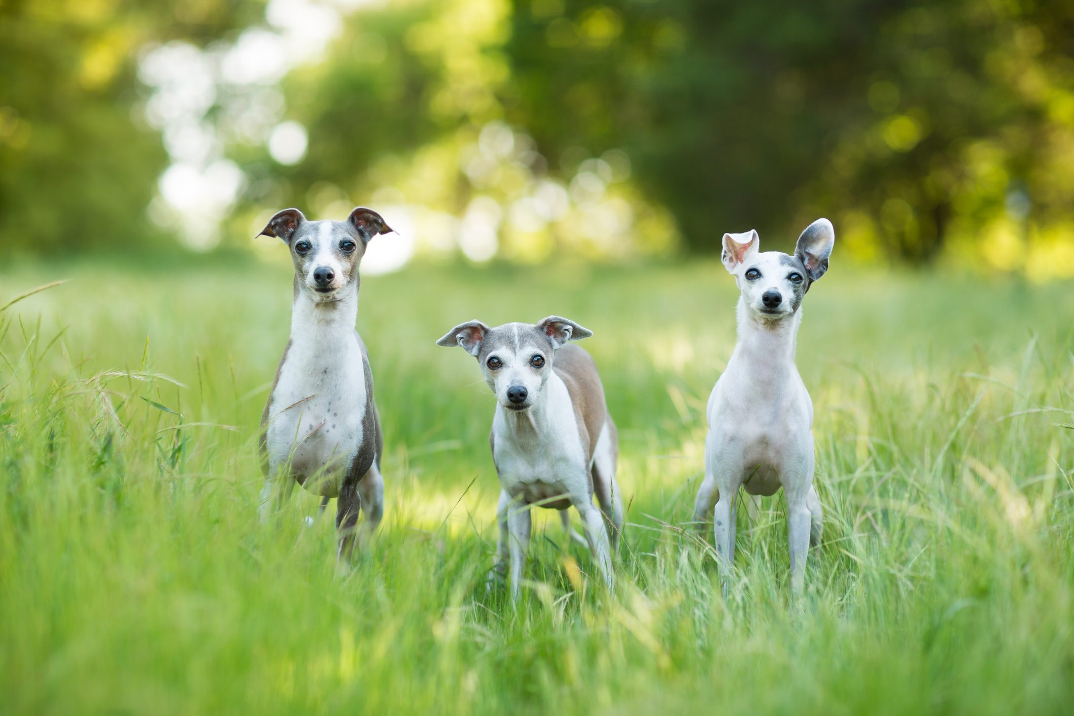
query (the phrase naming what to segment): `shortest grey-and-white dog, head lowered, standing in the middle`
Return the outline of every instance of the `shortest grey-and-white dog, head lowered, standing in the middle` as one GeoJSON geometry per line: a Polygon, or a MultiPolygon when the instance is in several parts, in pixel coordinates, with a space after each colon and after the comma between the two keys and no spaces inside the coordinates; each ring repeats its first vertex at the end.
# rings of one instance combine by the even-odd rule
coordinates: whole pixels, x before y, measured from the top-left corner
{"type": "Polygon", "coordinates": [[[578,346],[568,345],[592,335],[574,321],[550,316],[536,325],[507,323],[495,328],[469,321],[436,341],[461,346],[475,356],[496,396],[489,442],[503,489],[496,508],[499,539],[493,571],[503,575],[510,558],[512,600],[519,597],[529,545],[531,507],[560,510],[568,535],[580,540],[566,511],[578,510],[600,574],[609,587],[614,585],[611,554],[623,530],[623,503],[615,483],[619,435],[596,363],[578,346]],[[594,492],[600,510],[593,506],[594,492]]]}

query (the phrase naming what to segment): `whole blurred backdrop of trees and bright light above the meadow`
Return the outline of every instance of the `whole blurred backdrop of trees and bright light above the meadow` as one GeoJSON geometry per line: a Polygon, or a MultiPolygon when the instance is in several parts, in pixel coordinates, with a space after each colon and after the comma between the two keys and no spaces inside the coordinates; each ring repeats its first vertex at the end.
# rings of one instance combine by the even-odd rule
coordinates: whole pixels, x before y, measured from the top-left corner
{"type": "Polygon", "coordinates": [[[15,255],[245,250],[376,208],[419,258],[711,254],[817,216],[877,265],[1074,275],[1074,5],[6,0],[15,255]]]}

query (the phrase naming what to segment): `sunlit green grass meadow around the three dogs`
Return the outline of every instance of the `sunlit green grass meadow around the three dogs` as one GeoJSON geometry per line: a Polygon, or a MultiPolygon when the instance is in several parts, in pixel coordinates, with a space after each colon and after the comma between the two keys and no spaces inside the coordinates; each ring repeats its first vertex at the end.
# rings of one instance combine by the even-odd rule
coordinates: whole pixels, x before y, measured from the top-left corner
{"type": "Polygon", "coordinates": [[[363,278],[386,516],[349,570],[313,496],[257,517],[287,266],[0,268],[0,306],[68,279],[0,309],[0,712],[1070,713],[1074,291],[836,254],[798,344],[826,511],[798,601],[780,496],[740,511],[726,599],[690,523],[716,262],[363,278]],[[434,341],[550,313],[595,334],[628,526],[609,593],[538,514],[516,609],[491,395],[434,341]]]}

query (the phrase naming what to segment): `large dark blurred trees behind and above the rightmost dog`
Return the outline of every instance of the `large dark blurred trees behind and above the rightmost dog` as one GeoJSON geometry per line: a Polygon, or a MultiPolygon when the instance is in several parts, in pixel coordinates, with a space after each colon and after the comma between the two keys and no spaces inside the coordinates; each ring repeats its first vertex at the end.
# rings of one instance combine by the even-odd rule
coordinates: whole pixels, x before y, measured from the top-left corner
{"type": "Polygon", "coordinates": [[[628,148],[694,249],[828,215],[865,258],[998,258],[1071,221],[1072,29],[1071,3],[518,0],[505,105],[563,164],[628,148]]]}

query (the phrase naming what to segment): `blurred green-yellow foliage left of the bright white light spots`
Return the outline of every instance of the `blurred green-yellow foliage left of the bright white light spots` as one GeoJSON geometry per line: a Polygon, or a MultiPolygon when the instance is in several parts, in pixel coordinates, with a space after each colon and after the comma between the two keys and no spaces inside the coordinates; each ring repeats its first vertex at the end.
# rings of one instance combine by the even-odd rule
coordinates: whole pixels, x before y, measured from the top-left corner
{"type": "Polygon", "coordinates": [[[134,53],[206,41],[260,15],[208,0],[0,3],[0,237],[16,251],[144,246],[166,163],[140,123],[134,53]]]}

